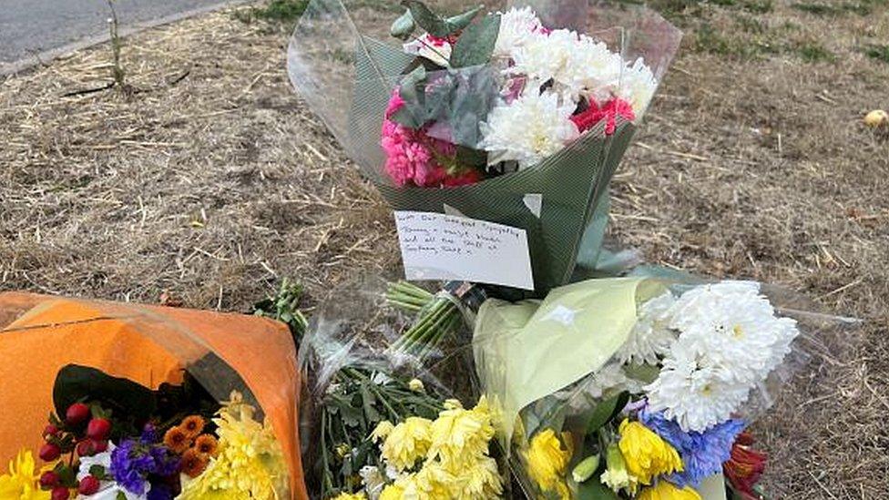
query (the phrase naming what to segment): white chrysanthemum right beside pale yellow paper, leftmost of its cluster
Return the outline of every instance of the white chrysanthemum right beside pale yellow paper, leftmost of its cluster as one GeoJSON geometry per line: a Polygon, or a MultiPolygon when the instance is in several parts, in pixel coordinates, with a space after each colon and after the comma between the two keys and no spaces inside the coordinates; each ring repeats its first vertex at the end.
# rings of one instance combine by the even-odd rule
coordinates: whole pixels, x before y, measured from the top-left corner
{"type": "Polygon", "coordinates": [[[659,358],[676,342],[677,332],[669,328],[669,312],[675,302],[676,298],[667,291],[639,307],[639,321],[615,354],[619,362],[659,363],[659,358]]]}

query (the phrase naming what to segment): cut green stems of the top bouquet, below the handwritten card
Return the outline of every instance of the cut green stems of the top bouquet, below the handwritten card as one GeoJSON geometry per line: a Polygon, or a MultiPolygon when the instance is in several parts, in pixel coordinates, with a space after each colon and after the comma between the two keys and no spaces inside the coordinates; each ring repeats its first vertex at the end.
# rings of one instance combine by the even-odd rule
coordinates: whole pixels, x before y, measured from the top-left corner
{"type": "Polygon", "coordinates": [[[407,281],[389,283],[386,301],[416,314],[414,326],[393,342],[391,349],[414,355],[421,361],[463,323],[463,315],[454,301],[407,281]]]}

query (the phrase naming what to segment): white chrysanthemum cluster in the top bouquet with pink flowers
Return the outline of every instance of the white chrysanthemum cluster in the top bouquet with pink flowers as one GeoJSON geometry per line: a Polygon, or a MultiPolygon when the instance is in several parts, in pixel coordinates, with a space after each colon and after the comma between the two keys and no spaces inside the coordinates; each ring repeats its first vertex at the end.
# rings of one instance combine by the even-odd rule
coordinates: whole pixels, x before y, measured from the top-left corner
{"type": "Polygon", "coordinates": [[[505,98],[488,115],[479,144],[492,165],[515,160],[526,168],[564,148],[580,135],[569,118],[583,100],[620,97],[640,117],[658,86],[642,59],[628,64],[590,36],[548,30],[530,7],[501,14],[494,56],[506,66],[505,98]],[[538,123],[529,111],[541,107],[549,112],[538,123]]]}

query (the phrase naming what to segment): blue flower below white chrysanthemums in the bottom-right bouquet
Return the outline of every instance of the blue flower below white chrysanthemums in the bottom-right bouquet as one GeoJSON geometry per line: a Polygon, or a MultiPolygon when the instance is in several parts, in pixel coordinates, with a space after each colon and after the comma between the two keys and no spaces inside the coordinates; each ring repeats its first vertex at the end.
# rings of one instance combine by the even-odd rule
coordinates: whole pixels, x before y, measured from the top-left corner
{"type": "Polygon", "coordinates": [[[680,487],[690,485],[695,488],[706,477],[722,471],[722,464],[731,457],[731,444],[747,425],[742,420],[732,419],[702,433],[685,432],[679,423],[668,420],[663,413],[647,410],[639,412],[639,420],[680,453],[685,468],[681,473],[670,474],[668,480],[680,487]]]}

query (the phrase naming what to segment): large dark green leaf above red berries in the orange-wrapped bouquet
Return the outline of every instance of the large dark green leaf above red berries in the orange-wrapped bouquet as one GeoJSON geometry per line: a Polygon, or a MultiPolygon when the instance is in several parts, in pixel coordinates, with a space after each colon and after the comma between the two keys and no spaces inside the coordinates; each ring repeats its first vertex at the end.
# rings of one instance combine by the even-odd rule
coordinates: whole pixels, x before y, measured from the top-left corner
{"type": "Polygon", "coordinates": [[[65,414],[73,403],[92,401],[146,420],[157,408],[157,398],[147,387],[112,377],[95,368],[69,364],[56,374],[53,403],[57,414],[65,414]]]}

